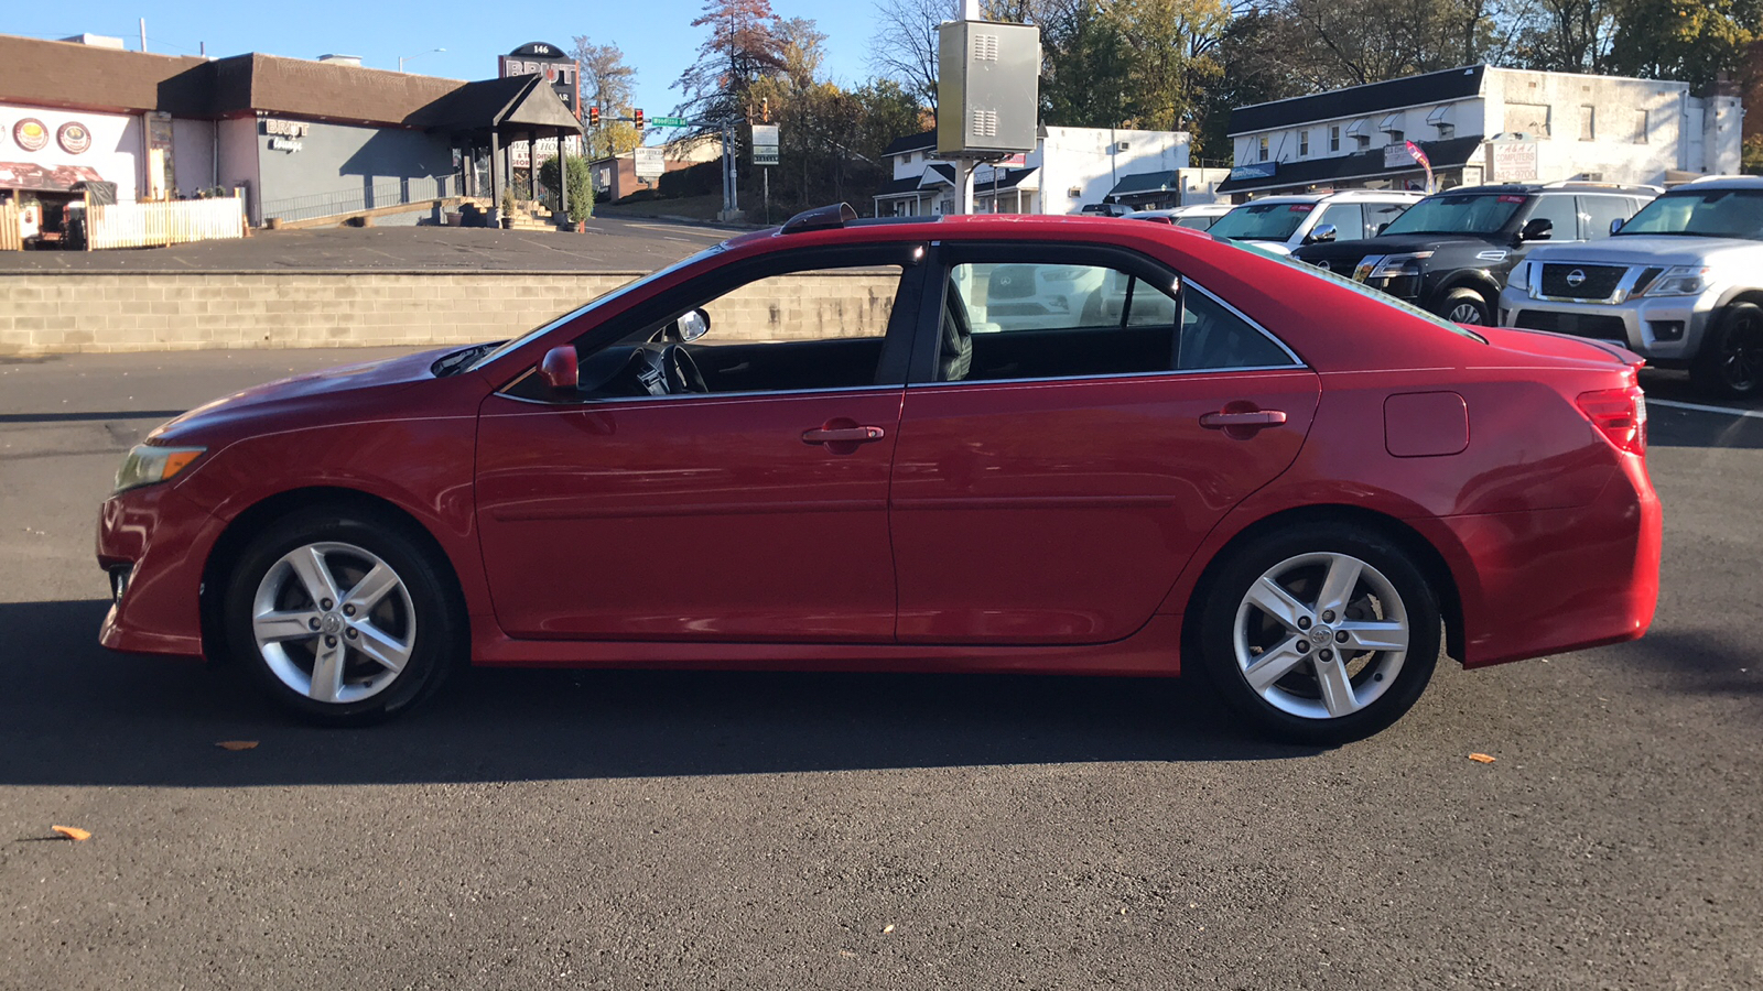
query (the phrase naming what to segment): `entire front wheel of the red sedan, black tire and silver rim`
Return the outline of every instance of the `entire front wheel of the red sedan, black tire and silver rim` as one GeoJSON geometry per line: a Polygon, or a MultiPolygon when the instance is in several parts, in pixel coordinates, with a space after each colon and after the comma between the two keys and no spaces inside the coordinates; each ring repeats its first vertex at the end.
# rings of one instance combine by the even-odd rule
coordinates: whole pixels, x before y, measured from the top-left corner
{"type": "Polygon", "coordinates": [[[451,571],[411,529],[349,506],[266,527],[227,580],[229,659],[316,723],[372,723],[439,689],[469,631],[451,571]]]}

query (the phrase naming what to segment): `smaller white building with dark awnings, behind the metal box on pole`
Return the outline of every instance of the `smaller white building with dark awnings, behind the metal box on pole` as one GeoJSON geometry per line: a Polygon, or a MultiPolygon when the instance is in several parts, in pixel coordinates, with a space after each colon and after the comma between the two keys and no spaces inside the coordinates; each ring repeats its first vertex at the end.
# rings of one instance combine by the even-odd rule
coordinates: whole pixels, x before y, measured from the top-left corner
{"type": "MultiPolygon", "coordinates": [[[[973,171],[977,213],[1077,213],[1090,203],[1179,206],[1211,203],[1222,169],[1188,169],[1186,130],[1042,127],[1033,152],[973,171]],[[1216,175],[1213,175],[1216,173],[1216,175]]],[[[899,138],[883,152],[894,182],[874,197],[878,217],[956,212],[956,164],[936,157],[936,132],[899,138]]]]}

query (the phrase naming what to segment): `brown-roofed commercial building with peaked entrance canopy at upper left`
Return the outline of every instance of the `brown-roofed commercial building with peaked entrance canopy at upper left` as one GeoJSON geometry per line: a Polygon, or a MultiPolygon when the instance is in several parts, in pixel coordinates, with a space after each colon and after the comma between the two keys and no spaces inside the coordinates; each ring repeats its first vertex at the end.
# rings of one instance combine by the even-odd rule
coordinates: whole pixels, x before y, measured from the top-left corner
{"type": "Polygon", "coordinates": [[[513,178],[511,146],[578,139],[554,83],[0,35],[0,194],[53,203],[81,182],[115,183],[122,203],[236,190],[254,224],[360,212],[414,224],[439,219],[446,199],[494,201],[513,178]]]}

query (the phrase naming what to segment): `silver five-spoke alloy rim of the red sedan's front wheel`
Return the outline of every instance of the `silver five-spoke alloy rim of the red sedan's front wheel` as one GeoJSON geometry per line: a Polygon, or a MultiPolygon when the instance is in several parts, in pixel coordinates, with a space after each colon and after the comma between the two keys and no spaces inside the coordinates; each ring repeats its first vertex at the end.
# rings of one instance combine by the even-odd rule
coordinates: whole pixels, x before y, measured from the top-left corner
{"type": "Polygon", "coordinates": [[[416,610],[397,571],[353,543],[307,543],[264,571],[250,628],[270,672],[314,702],[379,695],[416,649],[416,610]]]}

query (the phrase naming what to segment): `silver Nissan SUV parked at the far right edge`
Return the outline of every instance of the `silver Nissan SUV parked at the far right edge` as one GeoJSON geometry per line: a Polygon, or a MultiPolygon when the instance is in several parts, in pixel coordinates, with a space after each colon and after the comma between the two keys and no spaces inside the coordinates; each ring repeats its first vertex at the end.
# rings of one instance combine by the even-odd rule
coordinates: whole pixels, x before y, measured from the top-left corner
{"type": "Polygon", "coordinates": [[[1530,252],[1500,323],[1613,340],[1715,395],[1763,393],[1763,176],[1680,185],[1611,227],[1530,252]]]}

